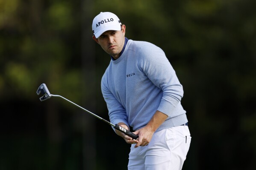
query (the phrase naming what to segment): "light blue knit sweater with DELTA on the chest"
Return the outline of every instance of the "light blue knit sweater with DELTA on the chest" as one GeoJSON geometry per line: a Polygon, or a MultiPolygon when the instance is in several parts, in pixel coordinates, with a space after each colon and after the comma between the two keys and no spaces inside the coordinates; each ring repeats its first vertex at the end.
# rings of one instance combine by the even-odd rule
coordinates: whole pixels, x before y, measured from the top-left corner
{"type": "Polygon", "coordinates": [[[156,131],[188,122],[180,103],[182,85],[165,53],[152,43],[128,40],[122,55],[110,61],[101,90],[112,124],[138,130],[156,110],[168,115],[156,131]]]}

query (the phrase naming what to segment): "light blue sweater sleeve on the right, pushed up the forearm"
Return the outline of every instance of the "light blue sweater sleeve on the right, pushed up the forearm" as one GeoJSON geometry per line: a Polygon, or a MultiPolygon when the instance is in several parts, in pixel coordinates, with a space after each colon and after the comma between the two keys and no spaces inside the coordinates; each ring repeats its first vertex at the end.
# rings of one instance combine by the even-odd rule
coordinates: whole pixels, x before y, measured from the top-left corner
{"type": "Polygon", "coordinates": [[[141,50],[139,64],[150,81],[163,92],[157,110],[172,117],[175,107],[183,97],[183,88],[165,53],[159,47],[151,44],[151,48],[141,50]]]}

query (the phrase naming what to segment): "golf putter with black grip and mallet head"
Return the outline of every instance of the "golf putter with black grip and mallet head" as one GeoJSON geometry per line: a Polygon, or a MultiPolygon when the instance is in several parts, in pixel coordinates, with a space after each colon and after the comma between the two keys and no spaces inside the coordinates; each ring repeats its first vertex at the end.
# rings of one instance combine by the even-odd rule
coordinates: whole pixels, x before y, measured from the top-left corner
{"type": "Polygon", "coordinates": [[[43,95],[41,98],[39,98],[40,101],[45,101],[45,100],[47,100],[47,99],[49,99],[49,98],[51,98],[51,97],[59,97],[59,98],[62,98],[62,99],[64,99],[65,101],[68,101],[68,102],[70,102],[71,104],[74,104],[75,106],[79,107],[80,109],[84,110],[85,112],[88,112],[89,114],[93,115],[94,117],[100,119],[101,121],[104,121],[105,123],[111,125],[111,126],[114,127],[116,130],[119,130],[119,131],[121,131],[122,133],[125,133],[126,135],[130,136],[131,138],[133,138],[133,139],[137,139],[137,138],[138,138],[138,135],[135,135],[134,133],[130,132],[129,130],[124,129],[123,127],[119,126],[118,124],[112,124],[112,123],[110,123],[109,121],[106,121],[105,119],[101,118],[100,116],[95,115],[94,113],[92,113],[92,112],[86,110],[85,108],[83,108],[83,107],[81,107],[81,106],[75,104],[74,102],[72,102],[72,101],[70,101],[70,100],[68,100],[68,99],[66,99],[66,98],[64,98],[64,97],[62,97],[61,95],[52,95],[52,94],[50,94],[50,92],[49,92],[49,90],[48,90],[46,84],[44,84],[44,83],[41,84],[41,85],[38,87],[38,90],[36,91],[36,93],[37,93],[37,95],[40,95],[40,94],[43,95]]]}

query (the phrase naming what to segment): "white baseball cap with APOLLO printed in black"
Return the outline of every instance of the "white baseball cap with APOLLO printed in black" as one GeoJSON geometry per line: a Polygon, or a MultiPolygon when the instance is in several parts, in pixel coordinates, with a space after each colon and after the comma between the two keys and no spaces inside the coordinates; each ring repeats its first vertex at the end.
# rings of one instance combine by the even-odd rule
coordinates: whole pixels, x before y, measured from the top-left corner
{"type": "Polygon", "coordinates": [[[100,12],[92,21],[92,31],[96,38],[100,37],[103,32],[109,30],[121,30],[121,21],[118,16],[111,12],[100,12]]]}

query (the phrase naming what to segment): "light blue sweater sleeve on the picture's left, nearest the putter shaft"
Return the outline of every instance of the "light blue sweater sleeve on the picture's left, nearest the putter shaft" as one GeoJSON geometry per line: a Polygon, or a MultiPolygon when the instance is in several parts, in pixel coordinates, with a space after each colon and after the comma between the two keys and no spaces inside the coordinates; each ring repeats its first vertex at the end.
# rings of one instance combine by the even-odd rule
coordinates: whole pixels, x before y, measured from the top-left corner
{"type": "Polygon", "coordinates": [[[127,113],[124,107],[118,102],[113,93],[109,90],[106,73],[101,80],[101,91],[109,110],[109,119],[112,124],[123,122],[129,126],[127,113]]]}

